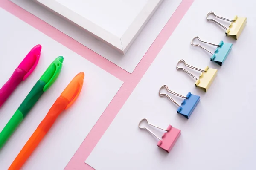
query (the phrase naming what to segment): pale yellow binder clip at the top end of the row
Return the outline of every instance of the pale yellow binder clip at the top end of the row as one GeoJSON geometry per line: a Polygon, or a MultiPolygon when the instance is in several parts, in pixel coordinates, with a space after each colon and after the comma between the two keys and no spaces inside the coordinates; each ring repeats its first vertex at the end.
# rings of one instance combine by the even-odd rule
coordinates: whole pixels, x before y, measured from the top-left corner
{"type": "Polygon", "coordinates": [[[237,17],[237,15],[236,15],[233,20],[229,20],[227,18],[223,18],[223,17],[219,17],[219,16],[215,15],[214,12],[212,12],[212,11],[207,14],[206,19],[208,21],[213,21],[213,22],[217,23],[219,26],[222,26],[224,29],[226,29],[225,34],[227,36],[234,38],[235,40],[237,40],[239,38],[239,36],[241,35],[241,33],[244,29],[244,26],[246,25],[246,17],[237,17]],[[219,18],[221,20],[230,21],[231,23],[227,28],[224,25],[222,25],[221,23],[219,23],[218,21],[209,19],[208,16],[210,14],[213,14],[214,17],[219,18]]]}

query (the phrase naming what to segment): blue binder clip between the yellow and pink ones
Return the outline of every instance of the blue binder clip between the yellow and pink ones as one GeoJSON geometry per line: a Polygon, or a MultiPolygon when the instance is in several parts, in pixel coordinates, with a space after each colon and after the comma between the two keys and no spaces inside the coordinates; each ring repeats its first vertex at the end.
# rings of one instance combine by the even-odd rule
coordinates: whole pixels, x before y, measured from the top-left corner
{"type": "Polygon", "coordinates": [[[175,103],[178,106],[177,113],[180,115],[183,115],[185,118],[189,119],[190,115],[194,111],[195,107],[197,106],[198,102],[200,101],[200,96],[198,95],[192,95],[191,92],[189,92],[186,97],[183,95],[180,95],[176,92],[171,91],[168,86],[163,85],[159,89],[159,96],[163,97],[165,96],[166,98],[169,98],[173,103],[175,103]],[[181,103],[181,106],[177,104],[175,100],[173,100],[169,95],[160,93],[161,89],[165,88],[167,92],[176,95],[178,97],[184,98],[183,102],[181,103]]]}

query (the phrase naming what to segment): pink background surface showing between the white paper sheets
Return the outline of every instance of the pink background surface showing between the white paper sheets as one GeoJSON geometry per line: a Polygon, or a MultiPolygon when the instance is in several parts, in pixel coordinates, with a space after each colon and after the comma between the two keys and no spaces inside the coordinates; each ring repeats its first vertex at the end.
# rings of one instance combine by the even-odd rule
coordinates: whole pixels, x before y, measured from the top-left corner
{"type": "Polygon", "coordinates": [[[29,12],[26,12],[24,9],[20,8],[14,3],[8,0],[0,0],[0,7],[5,9],[6,11],[12,13],[29,25],[48,35],[52,39],[73,50],[88,61],[94,63],[96,66],[101,67],[105,71],[114,75],[116,78],[124,81],[124,84],[116,93],[115,97],[112,99],[111,103],[108,105],[105,111],[102,113],[102,116],[94,125],[93,129],[84,139],[83,143],[76,151],[73,158],[67,164],[65,170],[93,170],[93,168],[85,164],[84,161],[90,155],[93,148],[96,146],[102,135],[105,133],[113,119],[118,114],[119,110],[125,104],[125,101],[131,95],[134,88],[139,83],[140,79],[143,77],[151,63],[156,58],[157,54],[160,52],[166,41],[172,35],[172,32],[180,23],[180,20],[186,14],[193,1],[194,0],[183,0],[180,3],[175,13],[169,19],[166,26],[157,36],[156,40],[154,40],[154,43],[151,45],[140,63],[134,69],[134,72],[130,74],[119,66],[116,66],[107,59],[98,55],[96,52],[93,52],[92,50],[83,46],[81,43],[78,43],[76,40],[73,40],[69,36],[58,31],[54,27],[50,26],[49,24],[45,23],[44,21],[30,14],[29,12]]]}

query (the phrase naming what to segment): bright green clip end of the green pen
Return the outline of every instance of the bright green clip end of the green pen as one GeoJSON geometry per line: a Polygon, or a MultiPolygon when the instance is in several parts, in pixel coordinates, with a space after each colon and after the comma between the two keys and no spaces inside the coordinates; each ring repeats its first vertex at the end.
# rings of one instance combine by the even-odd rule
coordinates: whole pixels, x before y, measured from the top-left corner
{"type": "Polygon", "coordinates": [[[40,80],[44,81],[46,85],[44,86],[43,91],[46,92],[47,89],[55,82],[55,80],[58,78],[62,63],[64,58],[62,56],[57,57],[51,65],[47,68],[47,70],[44,72],[44,74],[41,76],[40,80]]]}

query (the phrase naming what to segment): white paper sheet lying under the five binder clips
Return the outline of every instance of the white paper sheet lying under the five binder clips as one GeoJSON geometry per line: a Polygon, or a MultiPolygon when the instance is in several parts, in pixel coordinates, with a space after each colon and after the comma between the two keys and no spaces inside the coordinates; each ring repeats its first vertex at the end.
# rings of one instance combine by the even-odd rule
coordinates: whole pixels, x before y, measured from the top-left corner
{"type": "MultiPolygon", "coordinates": [[[[195,0],[85,162],[96,170],[256,169],[255,6],[250,0],[195,0]],[[230,19],[235,15],[247,17],[239,40],[226,37],[222,27],[207,22],[205,17],[211,10],[230,19]],[[195,36],[211,43],[233,43],[222,67],[210,61],[209,52],[190,45],[195,36]],[[194,86],[192,77],[176,70],[180,59],[201,69],[218,69],[207,93],[194,86]],[[164,84],[181,95],[192,92],[201,96],[189,120],[176,113],[177,106],[170,100],[158,96],[164,84]],[[163,128],[171,124],[181,130],[170,153],[157,147],[157,138],[138,128],[142,118],[163,128]]],[[[204,46],[211,51],[216,48],[204,46]]],[[[188,70],[196,77],[200,75],[188,70]]],[[[172,97],[179,104],[183,101],[172,97]]],[[[152,130],[160,137],[164,133],[152,130]]]]}

